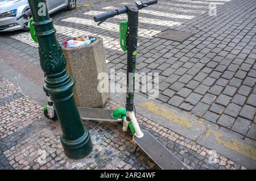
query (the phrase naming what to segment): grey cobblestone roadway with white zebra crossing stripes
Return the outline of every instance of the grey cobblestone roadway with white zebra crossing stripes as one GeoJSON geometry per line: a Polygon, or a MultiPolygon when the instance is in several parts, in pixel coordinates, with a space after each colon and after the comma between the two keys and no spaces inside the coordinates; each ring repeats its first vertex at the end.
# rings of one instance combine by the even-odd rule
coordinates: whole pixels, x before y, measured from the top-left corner
{"type": "MultiPolygon", "coordinates": [[[[92,5],[53,14],[57,38],[100,35],[110,61],[108,71],[124,72],[126,55],[119,48],[118,22],[125,15],[101,26],[92,20],[122,2],[79,1],[92,5]]],[[[137,70],[160,74],[160,103],[255,140],[255,1],[214,2],[217,16],[208,15],[210,1],[159,1],[141,10],[137,70]],[[167,28],[195,35],[183,43],[153,37],[167,28]]],[[[37,45],[28,32],[0,38],[1,47],[39,65],[37,45]]]]}

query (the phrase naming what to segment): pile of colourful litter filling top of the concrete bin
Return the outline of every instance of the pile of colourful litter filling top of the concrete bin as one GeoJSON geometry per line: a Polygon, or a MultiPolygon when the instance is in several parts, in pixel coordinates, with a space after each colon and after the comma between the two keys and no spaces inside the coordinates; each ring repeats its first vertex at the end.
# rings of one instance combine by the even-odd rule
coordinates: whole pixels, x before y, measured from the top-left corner
{"type": "Polygon", "coordinates": [[[61,44],[61,46],[64,46],[65,48],[69,47],[80,47],[80,46],[84,46],[84,45],[89,45],[91,43],[93,43],[93,41],[95,41],[96,38],[89,38],[88,35],[86,35],[86,38],[84,36],[82,37],[75,37],[75,39],[71,39],[71,40],[65,40],[63,42],[63,44],[61,44]]]}

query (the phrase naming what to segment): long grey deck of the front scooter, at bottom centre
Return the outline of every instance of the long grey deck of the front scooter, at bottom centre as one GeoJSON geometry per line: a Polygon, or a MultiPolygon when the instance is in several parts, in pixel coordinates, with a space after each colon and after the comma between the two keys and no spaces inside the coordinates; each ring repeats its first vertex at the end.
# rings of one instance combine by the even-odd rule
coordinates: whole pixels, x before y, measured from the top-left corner
{"type": "Polygon", "coordinates": [[[133,140],[138,146],[163,170],[188,170],[174,154],[165,148],[154,136],[147,131],[142,131],[144,136],[138,138],[133,136],[133,140]]]}

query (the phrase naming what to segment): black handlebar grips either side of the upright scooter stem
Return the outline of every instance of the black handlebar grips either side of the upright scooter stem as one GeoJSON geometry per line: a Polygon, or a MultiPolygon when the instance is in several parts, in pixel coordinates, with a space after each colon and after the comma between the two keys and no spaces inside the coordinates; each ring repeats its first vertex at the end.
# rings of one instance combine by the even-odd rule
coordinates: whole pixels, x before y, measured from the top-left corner
{"type": "MultiPolygon", "coordinates": [[[[148,1],[145,1],[145,2],[136,2],[135,5],[137,5],[139,9],[142,9],[143,7],[154,5],[155,3],[158,3],[158,0],[148,0],[148,1]],[[141,5],[138,5],[138,3],[141,3],[141,5]]],[[[108,18],[112,18],[115,15],[120,15],[120,14],[123,14],[125,12],[127,12],[127,7],[126,6],[121,7],[117,10],[104,12],[102,14],[96,15],[96,16],[93,17],[93,19],[94,19],[94,22],[101,22],[101,21],[104,21],[108,18]]]]}

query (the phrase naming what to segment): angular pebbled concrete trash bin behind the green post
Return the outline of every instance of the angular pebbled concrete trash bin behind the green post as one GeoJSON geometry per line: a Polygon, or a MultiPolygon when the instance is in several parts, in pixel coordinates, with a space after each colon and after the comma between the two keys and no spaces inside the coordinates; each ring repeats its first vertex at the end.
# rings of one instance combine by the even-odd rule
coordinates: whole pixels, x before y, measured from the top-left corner
{"type": "Polygon", "coordinates": [[[97,90],[100,82],[97,77],[99,73],[106,73],[106,61],[103,41],[100,37],[95,38],[96,41],[89,45],[62,47],[67,70],[76,79],[74,92],[78,107],[104,107],[109,98],[108,92],[100,93],[97,90]]]}

